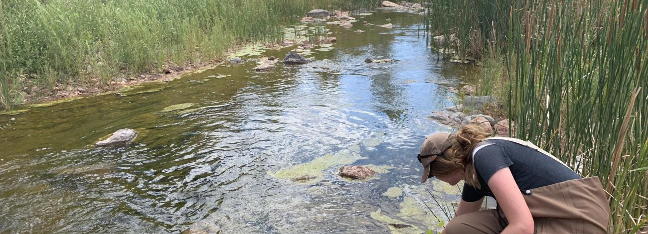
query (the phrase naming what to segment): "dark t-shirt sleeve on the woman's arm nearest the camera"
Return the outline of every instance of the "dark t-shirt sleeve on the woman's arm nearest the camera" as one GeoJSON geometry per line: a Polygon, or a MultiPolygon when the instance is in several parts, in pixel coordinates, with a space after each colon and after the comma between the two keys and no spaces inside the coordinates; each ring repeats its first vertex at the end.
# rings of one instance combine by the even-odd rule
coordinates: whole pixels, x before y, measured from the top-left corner
{"type": "Polygon", "coordinates": [[[478,150],[474,157],[473,164],[484,182],[488,184],[491,176],[504,167],[513,165],[509,158],[508,151],[500,145],[487,145],[478,150]]]}

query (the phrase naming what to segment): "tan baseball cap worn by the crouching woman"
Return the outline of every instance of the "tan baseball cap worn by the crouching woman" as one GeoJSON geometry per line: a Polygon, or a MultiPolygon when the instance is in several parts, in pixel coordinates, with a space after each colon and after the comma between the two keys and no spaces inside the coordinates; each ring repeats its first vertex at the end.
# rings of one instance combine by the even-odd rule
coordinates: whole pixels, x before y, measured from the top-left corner
{"type": "Polygon", "coordinates": [[[419,162],[423,165],[421,183],[424,183],[428,178],[433,176],[430,173],[430,164],[455,142],[455,136],[450,133],[437,132],[425,138],[425,142],[421,146],[421,153],[417,156],[419,162]]]}

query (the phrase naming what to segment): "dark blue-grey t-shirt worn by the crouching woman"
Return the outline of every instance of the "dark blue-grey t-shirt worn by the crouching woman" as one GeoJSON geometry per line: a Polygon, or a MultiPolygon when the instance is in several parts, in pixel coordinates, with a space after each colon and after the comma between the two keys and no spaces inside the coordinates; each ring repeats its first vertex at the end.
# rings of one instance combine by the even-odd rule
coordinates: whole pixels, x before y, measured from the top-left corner
{"type": "Polygon", "coordinates": [[[488,182],[496,171],[504,167],[509,167],[516,184],[522,190],[581,178],[572,169],[535,149],[507,140],[492,139],[485,143],[491,145],[482,147],[474,154],[481,189],[464,184],[461,199],[467,202],[476,202],[484,196],[495,197],[488,182]]]}

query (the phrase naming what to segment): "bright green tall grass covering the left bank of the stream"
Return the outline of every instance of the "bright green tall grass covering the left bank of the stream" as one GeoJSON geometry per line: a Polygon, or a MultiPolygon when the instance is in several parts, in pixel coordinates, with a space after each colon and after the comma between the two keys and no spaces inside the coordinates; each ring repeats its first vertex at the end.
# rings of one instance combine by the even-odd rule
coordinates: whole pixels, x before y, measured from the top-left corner
{"type": "Polygon", "coordinates": [[[164,65],[211,61],[313,8],[371,8],[376,0],[3,0],[0,109],[25,87],[110,84],[164,65]]]}

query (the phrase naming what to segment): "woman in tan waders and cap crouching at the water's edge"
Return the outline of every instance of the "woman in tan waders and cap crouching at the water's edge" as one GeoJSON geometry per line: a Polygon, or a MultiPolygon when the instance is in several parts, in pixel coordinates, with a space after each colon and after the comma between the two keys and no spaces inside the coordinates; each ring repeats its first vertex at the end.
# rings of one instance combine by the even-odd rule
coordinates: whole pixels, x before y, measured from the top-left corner
{"type": "Polygon", "coordinates": [[[493,137],[477,125],[434,133],[417,156],[421,182],[465,180],[443,233],[607,233],[610,207],[597,177],[581,178],[530,142],[493,137]],[[484,197],[496,209],[481,210],[484,197]]]}

